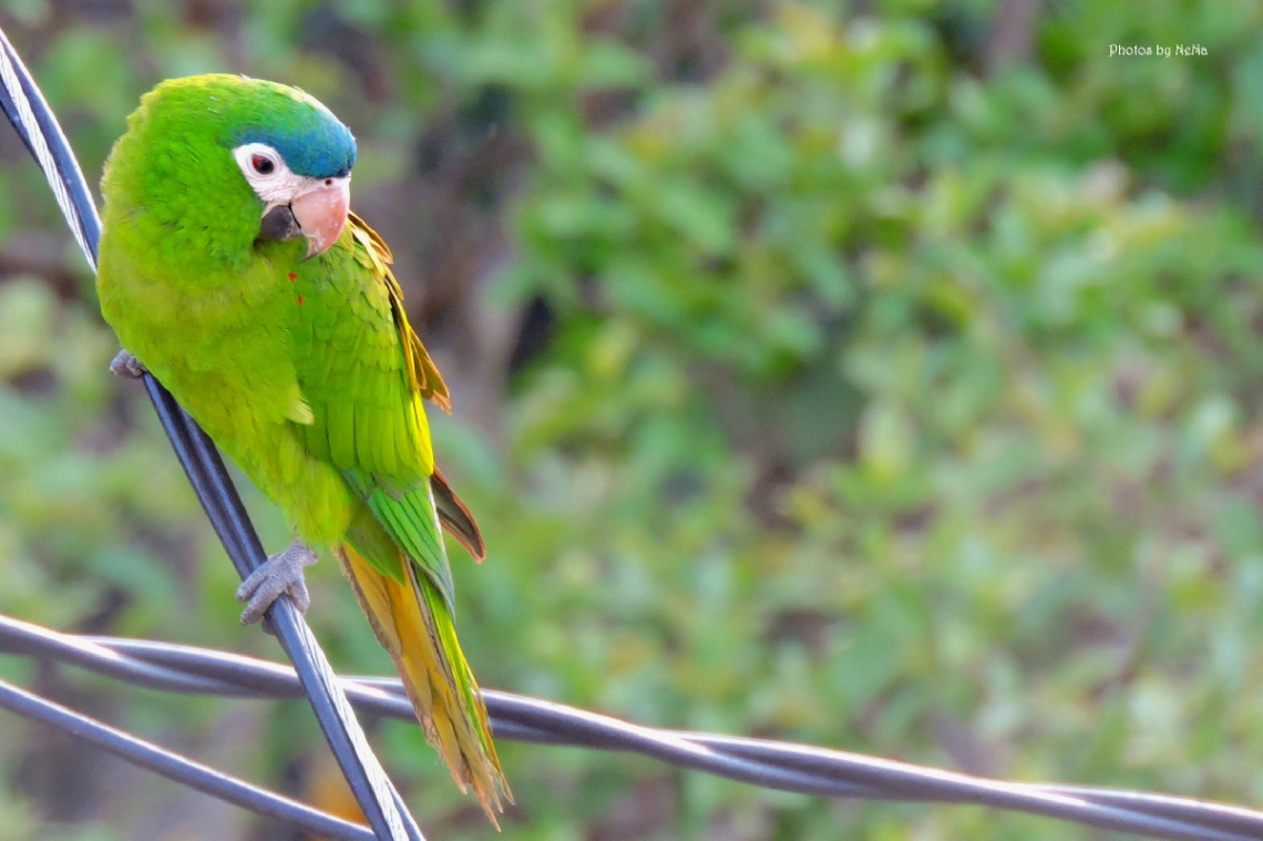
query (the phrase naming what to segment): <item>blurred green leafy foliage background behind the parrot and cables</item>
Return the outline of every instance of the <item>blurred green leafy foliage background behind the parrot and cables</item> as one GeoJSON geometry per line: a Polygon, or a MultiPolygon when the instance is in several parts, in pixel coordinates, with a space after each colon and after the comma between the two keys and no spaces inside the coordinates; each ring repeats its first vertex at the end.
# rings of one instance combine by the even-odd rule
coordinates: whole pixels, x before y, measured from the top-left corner
{"type": "MultiPolygon", "coordinates": [[[[352,128],[490,544],[453,549],[484,686],[1258,806],[1260,9],[5,0],[0,25],[93,186],[167,77],[299,85],[352,128]]],[[[115,350],[0,131],[0,611],[279,658],[115,350]]],[[[336,564],[309,580],[335,664],[389,673],[336,564]]],[[[0,674],[349,808],[301,702],[0,674]]],[[[431,837],[496,837],[418,727],[369,726],[431,837]]],[[[1109,837],[500,753],[505,838],[1109,837]]],[[[0,772],[0,841],[299,837],[9,715],[0,772]]]]}

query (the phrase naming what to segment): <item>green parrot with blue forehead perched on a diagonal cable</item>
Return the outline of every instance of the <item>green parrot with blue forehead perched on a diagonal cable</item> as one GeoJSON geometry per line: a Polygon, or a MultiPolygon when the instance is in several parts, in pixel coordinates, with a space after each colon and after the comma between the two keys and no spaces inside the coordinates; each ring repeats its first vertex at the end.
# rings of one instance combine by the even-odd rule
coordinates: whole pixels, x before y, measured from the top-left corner
{"type": "Polygon", "coordinates": [[[163,82],[106,162],[97,292],[153,373],[296,534],[237,591],[244,623],[330,547],[429,743],[493,823],[512,802],[452,623],[441,525],[479,561],[434,466],[447,386],[408,325],[390,250],[350,212],[355,140],[309,95],[242,76],[163,82]]]}

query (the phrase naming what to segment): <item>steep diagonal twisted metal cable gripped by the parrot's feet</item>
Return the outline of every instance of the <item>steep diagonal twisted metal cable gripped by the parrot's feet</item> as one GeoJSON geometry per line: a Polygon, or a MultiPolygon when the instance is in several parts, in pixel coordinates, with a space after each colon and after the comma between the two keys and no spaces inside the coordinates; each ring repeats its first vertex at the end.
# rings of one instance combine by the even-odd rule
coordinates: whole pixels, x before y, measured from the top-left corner
{"type": "MultiPolygon", "coordinates": [[[[95,269],[101,224],[83,173],[39,87],[3,32],[0,110],[43,170],[71,232],[95,269]]],[[[244,578],[263,562],[265,554],[218,452],[206,433],[152,375],[144,375],[144,384],[181,466],[197,491],[225,551],[244,578]]],[[[336,674],[293,602],[288,597],[278,599],[269,609],[268,619],[282,648],[294,663],[321,730],[374,832],[390,841],[424,841],[394,784],[369,748],[364,731],[338,688],[336,674]]]]}

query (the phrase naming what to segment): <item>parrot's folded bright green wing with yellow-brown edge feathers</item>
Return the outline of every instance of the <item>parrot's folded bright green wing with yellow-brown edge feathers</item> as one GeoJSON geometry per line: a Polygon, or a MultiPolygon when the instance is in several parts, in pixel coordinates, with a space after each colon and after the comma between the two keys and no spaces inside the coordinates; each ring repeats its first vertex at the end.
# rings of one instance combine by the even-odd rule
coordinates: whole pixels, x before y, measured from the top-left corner
{"type": "Polygon", "coordinates": [[[428,398],[448,407],[447,386],[408,325],[390,259],[376,234],[352,216],[322,265],[299,266],[294,292],[296,301],[302,295],[304,330],[298,331],[296,364],[313,417],[298,428],[308,450],[341,471],[451,602],[423,405],[428,398]]]}

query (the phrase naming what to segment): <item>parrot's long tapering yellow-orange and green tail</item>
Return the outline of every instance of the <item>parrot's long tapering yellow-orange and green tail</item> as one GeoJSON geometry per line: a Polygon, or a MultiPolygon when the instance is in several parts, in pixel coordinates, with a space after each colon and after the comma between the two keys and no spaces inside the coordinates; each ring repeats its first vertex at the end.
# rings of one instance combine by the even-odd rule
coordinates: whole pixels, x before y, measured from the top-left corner
{"type": "Polygon", "coordinates": [[[438,588],[399,556],[403,582],[378,572],[351,546],[335,551],[355,586],[360,606],[403,678],[426,739],[440,753],[461,790],[474,788],[496,828],[496,812],[513,802],[491,744],[486,705],[479,693],[452,615],[438,588]]]}

